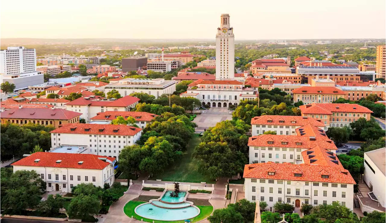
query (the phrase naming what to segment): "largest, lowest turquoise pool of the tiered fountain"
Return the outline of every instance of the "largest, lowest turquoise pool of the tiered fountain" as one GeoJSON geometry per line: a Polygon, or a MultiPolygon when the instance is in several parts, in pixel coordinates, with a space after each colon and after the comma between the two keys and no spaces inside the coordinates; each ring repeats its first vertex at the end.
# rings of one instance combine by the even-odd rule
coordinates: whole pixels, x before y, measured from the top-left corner
{"type": "MultiPolygon", "coordinates": [[[[154,202],[154,201],[153,201],[154,202]]],[[[177,205],[177,204],[173,204],[177,205]]],[[[190,206],[186,208],[169,209],[160,208],[152,205],[151,203],[145,203],[135,208],[137,215],[159,221],[179,221],[194,218],[200,214],[200,209],[196,206],[190,206]]]]}

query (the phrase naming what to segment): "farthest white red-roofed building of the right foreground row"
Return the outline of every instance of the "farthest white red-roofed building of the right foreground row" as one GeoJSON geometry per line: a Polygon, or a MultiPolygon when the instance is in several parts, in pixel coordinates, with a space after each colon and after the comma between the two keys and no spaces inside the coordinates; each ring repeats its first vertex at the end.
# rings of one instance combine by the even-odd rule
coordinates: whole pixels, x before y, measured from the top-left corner
{"type": "Polygon", "coordinates": [[[312,124],[320,129],[327,130],[325,125],[308,116],[256,116],[251,120],[252,136],[264,134],[266,131],[274,131],[277,135],[295,136],[296,129],[312,124]]]}

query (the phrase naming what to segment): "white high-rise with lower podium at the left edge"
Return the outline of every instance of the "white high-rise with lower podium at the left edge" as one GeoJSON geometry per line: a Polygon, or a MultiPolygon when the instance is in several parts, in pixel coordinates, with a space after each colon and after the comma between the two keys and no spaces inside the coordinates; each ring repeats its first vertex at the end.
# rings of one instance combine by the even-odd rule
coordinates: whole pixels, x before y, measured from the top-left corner
{"type": "Polygon", "coordinates": [[[7,47],[0,50],[0,83],[15,84],[15,90],[43,84],[41,71],[36,70],[36,50],[24,47],[7,47]]]}

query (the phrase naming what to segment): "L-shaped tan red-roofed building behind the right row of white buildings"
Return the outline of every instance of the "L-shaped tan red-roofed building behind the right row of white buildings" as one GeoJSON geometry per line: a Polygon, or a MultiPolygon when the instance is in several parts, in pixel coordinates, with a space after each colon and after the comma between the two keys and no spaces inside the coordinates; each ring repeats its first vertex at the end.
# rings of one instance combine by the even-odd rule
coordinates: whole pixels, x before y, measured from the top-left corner
{"type": "Polygon", "coordinates": [[[370,120],[371,113],[367,107],[359,104],[306,104],[299,107],[301,116],[312,117],[328,127],[349,126],[360,118],[370,120]]]}

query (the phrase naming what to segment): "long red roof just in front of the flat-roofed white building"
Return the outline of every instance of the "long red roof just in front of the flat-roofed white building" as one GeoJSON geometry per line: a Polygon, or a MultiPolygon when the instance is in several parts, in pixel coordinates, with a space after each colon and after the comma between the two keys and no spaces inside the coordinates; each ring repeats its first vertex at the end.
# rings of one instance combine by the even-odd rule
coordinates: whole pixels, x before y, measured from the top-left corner
{"type": "Polygon", "coordinates": [[[74,101],[70,101],[66,103],[66,105],[88,105],[88,106],[108,106],[108,107],[128,107],[136,102],[139,102],[139,98],[133,96],[125,96],[116,100],[95,100],[95,99],[85,99],[84,97],[80,97],[75,99],[74,101]]]}

